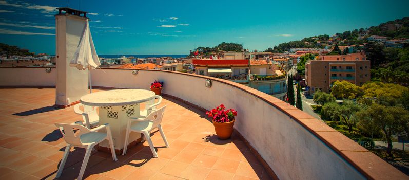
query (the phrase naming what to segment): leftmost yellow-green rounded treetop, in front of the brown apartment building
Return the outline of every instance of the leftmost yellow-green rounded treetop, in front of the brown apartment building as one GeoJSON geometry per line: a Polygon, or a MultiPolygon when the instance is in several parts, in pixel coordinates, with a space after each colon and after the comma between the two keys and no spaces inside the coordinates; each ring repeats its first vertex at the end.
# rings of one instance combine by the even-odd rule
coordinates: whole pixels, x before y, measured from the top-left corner
{"type": "Polygon", "coordinates": [[[355,99],[360,94],[360,89],[353,83],[336,81],[332,87],[331,94],[336,98],[355,99]]]}

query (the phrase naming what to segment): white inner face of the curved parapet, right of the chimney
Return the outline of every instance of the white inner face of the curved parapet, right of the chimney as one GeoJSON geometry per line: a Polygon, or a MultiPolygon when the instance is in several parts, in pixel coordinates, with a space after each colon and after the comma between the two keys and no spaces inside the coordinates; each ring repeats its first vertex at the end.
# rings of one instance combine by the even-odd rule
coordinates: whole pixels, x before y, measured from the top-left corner
{"type": "MultiPolygon", "coordinates": [[[[93,86],[149,89],[164,82],[162,92],[210,110],[221,103],[238,111],[235,128],[256,149],[280,179],[364,179],[332,149],[294,119],[240,88],[205,78],[167,71],[95,69],[93,86]]],[[[243,86],[244,87],[244,86],[243,86]]],[[[256,91],[256,90],[255,90],[256,91]]],[[[279,102],[279,101],[278,101],[279,102]]],[[[316,120],[316,119],[315,119],[316,120]]]]}

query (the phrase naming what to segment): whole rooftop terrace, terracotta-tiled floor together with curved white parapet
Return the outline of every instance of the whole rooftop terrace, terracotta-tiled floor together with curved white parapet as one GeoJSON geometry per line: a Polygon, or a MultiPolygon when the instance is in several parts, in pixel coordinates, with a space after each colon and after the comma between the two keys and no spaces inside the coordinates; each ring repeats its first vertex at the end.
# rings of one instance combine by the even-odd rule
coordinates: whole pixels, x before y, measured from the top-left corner
{"type": "MultiPolygon", "coordinates": [[[[72,107],[52,109],[55,89],[44,87],[55,85],[55,71],[0,68],[0,178],[54,177],[65,142],[53,124],[81,119],[72,107]]],[[[154,80],[165,82],[163,127],[170,147],[164,148],[154,133],[157,159],[146,144],[119,155],[117,163],[97,152],[86,169],[90,179],[147,174],[160,179],[408,179],[325,123],[235,82],[164,70],[95,69],[91,74],[94,87],[148,89],[154,80]],[[203,110],[221,103],[238,111],[231,141],[211,136],[214,129],[204,117],[203,110]]],[[[83,152],[72,151],[62,178],[76,177],[83,152]]]]}

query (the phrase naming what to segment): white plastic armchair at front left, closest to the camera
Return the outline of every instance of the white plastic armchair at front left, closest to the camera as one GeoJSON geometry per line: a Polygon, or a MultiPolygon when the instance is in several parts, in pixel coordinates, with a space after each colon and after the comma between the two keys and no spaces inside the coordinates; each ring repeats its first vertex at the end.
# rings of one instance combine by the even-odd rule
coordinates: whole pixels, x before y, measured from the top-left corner
{"type": "Polygon", "coordinates": [[[92,148],[103,140],[108,140],[109,147],[111,148],[112,159],[117,161],[115,149],[113,147],[112,134],[109,128],[109,124],[100,125],[98,128],[88,129],[81,124],[65,124],[55,123],[56,127],[60,129],[67,146],[65,147],[64,156],[61,159],[60,167],[57,171],[55,178],[59,178],[64,170],[64,165],[67,160],[68,154],[72,146],[86,148],[84,160],[81,166],[78,179],[82,179],[85,168],[87,167],[89,156],[91,155],[92,148]],[[78,129],[79,132],[75,134],[74,129],[78,129]],[[101,129],[106,129],[107,133],[98,132],[101,129]]]}

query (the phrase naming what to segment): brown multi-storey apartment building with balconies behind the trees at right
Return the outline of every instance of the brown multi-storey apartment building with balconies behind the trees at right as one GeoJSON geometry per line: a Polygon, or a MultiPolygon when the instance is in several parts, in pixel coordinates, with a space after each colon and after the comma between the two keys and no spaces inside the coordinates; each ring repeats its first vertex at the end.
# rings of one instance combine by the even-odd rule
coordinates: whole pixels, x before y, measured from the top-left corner
{"type": "Polygon", "coordinates": [[[329,93],[336,81],[348,81],[358,86],[371,79],[371,66],[364,52],[348,55],[324,55],[305,63],[306,91],[329,93]]]}

